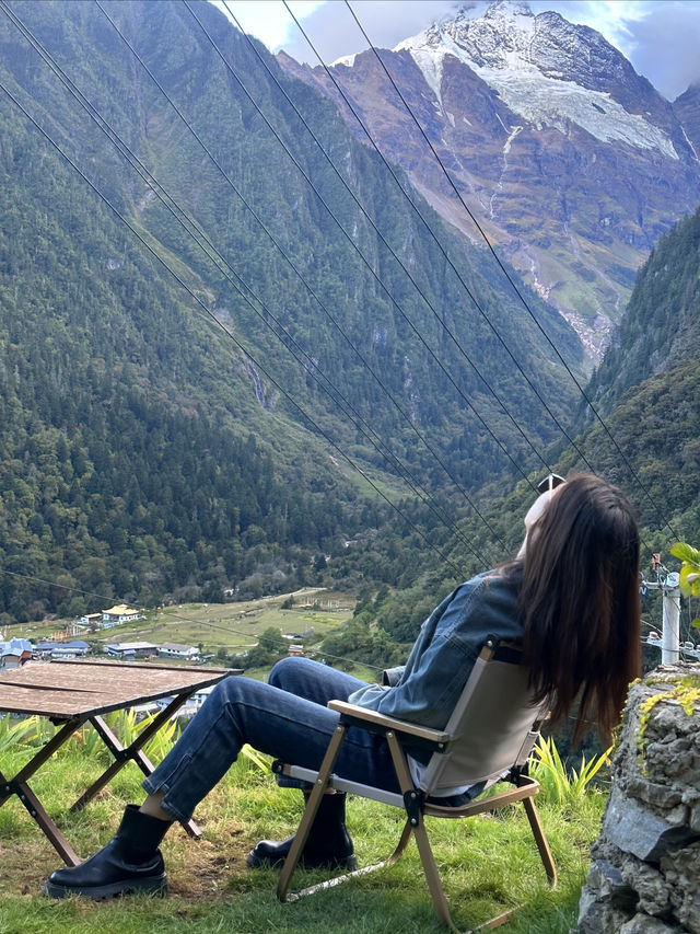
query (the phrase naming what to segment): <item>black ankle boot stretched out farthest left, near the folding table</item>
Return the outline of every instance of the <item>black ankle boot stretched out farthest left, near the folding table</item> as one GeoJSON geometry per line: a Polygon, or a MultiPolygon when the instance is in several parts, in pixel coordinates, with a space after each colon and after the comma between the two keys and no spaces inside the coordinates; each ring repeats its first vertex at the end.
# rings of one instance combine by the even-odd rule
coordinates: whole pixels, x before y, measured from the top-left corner
{"type": "Polygon", "coordinates": [[[84,895],[94,901],[135,891],[165,895],[167,880],[158,847],[170,826],[171,821],[141,814],[137,805],[127,805],[109,843],[80,866],[51,873],[44,895],[84,895]]]}

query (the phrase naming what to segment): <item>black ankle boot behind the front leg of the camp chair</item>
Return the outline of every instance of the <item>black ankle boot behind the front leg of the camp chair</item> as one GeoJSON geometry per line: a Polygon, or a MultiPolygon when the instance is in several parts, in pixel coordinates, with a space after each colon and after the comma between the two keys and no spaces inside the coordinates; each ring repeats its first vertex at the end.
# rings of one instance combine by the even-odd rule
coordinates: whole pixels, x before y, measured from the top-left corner
{"type": "MultiPolygon", "coordinates": [[[[260,840],[248,853],[246,862],[252,869],[260,866],[281,866],[293,842],[293,837],[281,841],[260,840]]],[[[345,794],[323,796],[300,862],[307,868],[324,866],[354,869],[358,865],[352,840],[346,827],[345,794]]]]}

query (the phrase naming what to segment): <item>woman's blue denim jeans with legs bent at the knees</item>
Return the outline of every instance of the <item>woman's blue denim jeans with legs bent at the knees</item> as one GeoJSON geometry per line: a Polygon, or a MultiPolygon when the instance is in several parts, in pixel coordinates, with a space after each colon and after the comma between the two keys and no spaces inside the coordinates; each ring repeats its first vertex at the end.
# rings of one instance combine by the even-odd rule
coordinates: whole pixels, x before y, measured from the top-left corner
{"type": "MultiPolygon", "coordinates": [[[[308,658],[278,661],[267,684],[224,678],[143,787],[149,794],[163,793],[162,807],[173,818],[189,820],[245,742],[284,762],[318,769],[338,724],[338,714],[327,708],[327,702],[345,701],[363,685],[308,658]]],[[[350,727],[336,771],[399,789],[386,740],[364,729],[350,727]]]]}

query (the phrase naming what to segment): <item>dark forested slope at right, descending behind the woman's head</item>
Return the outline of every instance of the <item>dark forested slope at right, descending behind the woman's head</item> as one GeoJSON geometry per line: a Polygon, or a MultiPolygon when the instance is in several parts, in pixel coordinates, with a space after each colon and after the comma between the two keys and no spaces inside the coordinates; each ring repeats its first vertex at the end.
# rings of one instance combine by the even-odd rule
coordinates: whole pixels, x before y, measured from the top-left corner
{"type": "MultiPolygon", "coordinates": [[[[662,238],[640,269],[612,345],[585,390],[597,414],[582,403],[573,443],[552,453],[564,476],[594,470],[630,496],[640,517],[641,568],[646,573],[653,553],[661,553],[673,569],[679,562],[670,546],[679,540],[700,542],[699,308],[700,209],[662,238]]],[[[532,486],[520,482],[485,507],[483,519],[503,542],[500,552],[485,521],[465,519],[460,534],[445,543],[450,562],[468,557],[465,542],[485,554],[493,554],[495,546],[497,558],[513,554],[532,499],[532,486]]],[[[458,583],[453,564],[433,560],[411,567],[408,550],[404,558],[409,570],[399,589],[361,603],[348,632],[332,643],[339,654],[351,653],[357,644],[363,657],[374,652],[380,658],[392,650],[393,639],[409,643],[430,609],[458,583]]],[[[370,564],[358,556],[354,569],[361,578],[370,564]]],[[[643,610],[661,624],[660,606],[646,601],[643,610]]],[[[684,633],[688,619],[684,606],[684,633]]]]}

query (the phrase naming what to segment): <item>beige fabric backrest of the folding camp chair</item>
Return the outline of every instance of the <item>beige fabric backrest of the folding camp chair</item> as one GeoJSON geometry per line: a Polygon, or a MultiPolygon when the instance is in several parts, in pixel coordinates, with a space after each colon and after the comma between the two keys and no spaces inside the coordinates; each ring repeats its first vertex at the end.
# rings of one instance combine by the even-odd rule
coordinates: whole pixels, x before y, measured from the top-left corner
{"type": "Polygon", "coordinates": [[[455,737],[433,753],[421,780],[428,794],[491,782],[527,761],[547,704],[535,704],[517,648],[487,643],[445,730],[455,737]]]}

